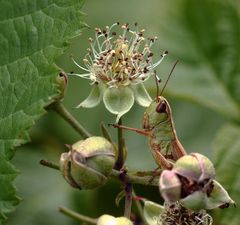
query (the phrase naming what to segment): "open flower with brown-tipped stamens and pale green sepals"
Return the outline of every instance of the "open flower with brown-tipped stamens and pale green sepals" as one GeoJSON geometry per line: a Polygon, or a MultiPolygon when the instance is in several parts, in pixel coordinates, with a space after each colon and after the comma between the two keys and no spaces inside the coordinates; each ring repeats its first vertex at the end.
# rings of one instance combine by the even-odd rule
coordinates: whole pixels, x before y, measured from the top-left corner
{"type": "Polygon", "coordinates": [[[103,30],[95,29],[95,39],[89,38],[90,48],[83,60],[84,66],[73,60],[85,71],[73,75],[89,79],[94,86],[88,98],[77,107],[95,107],[103,99],[105,107],[119,119],[130,110],[134,99],[144,107],[150,104],[151,98],[143,82],[154,74],[167,51],[154,62],[151,48],[157,37],[145,38],[145,30],[138,30],[136,23],[135,28],[115,23],[103,30]],[[122,31],[118,34],[115,29],[122,31]],[[121,104],[117,104],[119,102],[121,104]]]}

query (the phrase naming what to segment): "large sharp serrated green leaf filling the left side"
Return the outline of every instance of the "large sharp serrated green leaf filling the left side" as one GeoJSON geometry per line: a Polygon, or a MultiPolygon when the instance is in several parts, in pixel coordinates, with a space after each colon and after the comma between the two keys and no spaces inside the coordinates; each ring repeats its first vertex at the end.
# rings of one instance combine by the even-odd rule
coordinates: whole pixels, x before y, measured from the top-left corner
{"type": "MultiPolygon", "coordinates": [[[[44,113],[44,107],[59,95],[54,64],[68,46],[67,40],[84,27],[82,0],[0,1],[0,157],[3,163],[14,155],[14,147],[27,141],[28,129],[44,113]]],[[[8,162],[4,164],[6,171],[8,162]]],[[[0,171],[4,182],[0,222],[16,205],[11,178],[0,171]],[[9,192],[10,191],[10,192],[9,192]]]]}

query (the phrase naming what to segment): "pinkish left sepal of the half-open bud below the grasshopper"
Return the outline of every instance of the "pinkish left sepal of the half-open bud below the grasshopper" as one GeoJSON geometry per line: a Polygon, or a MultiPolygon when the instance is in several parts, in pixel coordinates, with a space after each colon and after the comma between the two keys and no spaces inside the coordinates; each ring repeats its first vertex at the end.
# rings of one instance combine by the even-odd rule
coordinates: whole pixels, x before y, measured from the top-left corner
{"type": "Polygon", "coordinates": [[[159,189],[166,202],[175,202],[181,196],[181,182],[171,170],[164,170],[159,180],[159,189]]]}

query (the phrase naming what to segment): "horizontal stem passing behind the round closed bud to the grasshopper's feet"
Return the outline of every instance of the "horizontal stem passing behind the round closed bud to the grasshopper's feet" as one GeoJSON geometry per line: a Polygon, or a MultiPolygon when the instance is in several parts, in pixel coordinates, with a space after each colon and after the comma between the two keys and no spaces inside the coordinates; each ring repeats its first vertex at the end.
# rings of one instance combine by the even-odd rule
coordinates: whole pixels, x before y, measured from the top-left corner
{"type": "MultiPolygon", "coordinates": [[[[59,165],[57,165],[56,163],[47,161],[47,160],[41,160],[40,164],[43,166],[52,168],[52,169],[59,170],[59,165]]],[[[149,173],[152,173],[152,171],[149,173]]],[[[122,174],[123,174],[123,172],[113,169],[110,176],[122,181],[122,174]]],[[[141,174],[141,173],[139,173],[139,172],[126,173],[124,175],[125,182],[132,183],[132,184],[142,184],[142,185],[147,185],[147,186],[158,186],[159,176],[152,177],[151,175],[138,175],[138,174],[141,174]],[[150,182],[151,179],[152,179],[152,181],[150,182]]],[[[146,172],[146,174],[147,174],[147,172],[146,172]]]]}

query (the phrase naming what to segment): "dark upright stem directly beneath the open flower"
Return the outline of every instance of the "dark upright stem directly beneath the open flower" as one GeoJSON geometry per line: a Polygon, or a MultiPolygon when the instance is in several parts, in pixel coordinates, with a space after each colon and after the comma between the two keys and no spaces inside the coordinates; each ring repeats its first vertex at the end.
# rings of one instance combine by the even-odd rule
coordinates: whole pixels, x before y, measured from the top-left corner
{"type": "MultiPolygon", "coordinates": [[[[122,125],[122,118],[119,119],[118,125],[120,125],[120,126],[122,125]]],[[[117,158],[114,169],[120,170],[124,164],[124,153],[123,153],[124,140],[123,140],[122,129],[118,127],[117,132],[118,132],[118,158],[117,158]]]]}

